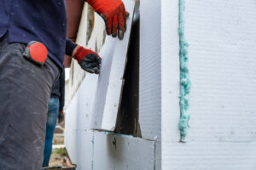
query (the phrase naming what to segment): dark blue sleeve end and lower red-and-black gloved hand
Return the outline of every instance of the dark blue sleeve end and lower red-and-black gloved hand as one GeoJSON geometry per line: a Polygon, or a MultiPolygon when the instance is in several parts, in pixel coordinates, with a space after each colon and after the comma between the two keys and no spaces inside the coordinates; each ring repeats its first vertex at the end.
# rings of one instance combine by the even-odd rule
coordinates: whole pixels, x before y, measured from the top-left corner
{"type": "Polygon", "coordinates": [[[76,43],[66,40],[66,54],[77,59],[84,71],[99,74],[102,64],[101,57],[90,49],[83,48],[76,43]]]}

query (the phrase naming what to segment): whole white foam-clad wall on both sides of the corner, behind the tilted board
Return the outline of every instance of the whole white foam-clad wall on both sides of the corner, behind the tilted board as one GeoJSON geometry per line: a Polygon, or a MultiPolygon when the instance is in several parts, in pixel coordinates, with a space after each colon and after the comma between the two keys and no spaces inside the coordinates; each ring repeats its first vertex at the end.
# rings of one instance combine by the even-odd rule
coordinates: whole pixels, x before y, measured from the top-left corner
{"type": "MultiPolygon", "coordinates": [[[[191,118],[180,143],[178,0],[141,0],[142,138],[90,130],[97,76],[84,78],[73,62],[65,143],[78,169],[256,169],[255,8],[254,0],[185,0],[191,118]]],[[[86,42],[87,14],[85,5],[78,42],[99,50],[104,23],[95,15],[86,42]]]]}

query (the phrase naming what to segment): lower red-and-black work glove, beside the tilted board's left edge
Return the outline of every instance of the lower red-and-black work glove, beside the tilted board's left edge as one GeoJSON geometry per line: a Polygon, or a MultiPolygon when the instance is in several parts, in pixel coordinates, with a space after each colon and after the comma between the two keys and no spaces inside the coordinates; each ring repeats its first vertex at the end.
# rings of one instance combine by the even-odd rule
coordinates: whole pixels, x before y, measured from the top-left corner
{"type": "Polygon", "coordinates": [[[80,46],[76,53],[73,55],[73,58],[77,59],[79,65],[84,71],[95,74],[100,73],[102,58],[96,54],[96,52],[80,46]]]}

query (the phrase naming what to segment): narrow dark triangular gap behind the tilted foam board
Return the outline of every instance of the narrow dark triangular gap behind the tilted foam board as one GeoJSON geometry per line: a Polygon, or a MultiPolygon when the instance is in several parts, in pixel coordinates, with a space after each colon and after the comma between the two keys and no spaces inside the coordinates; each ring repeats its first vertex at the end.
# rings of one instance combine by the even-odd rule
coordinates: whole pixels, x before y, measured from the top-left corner
{"type": "Polygon", "coordinates": [[[114,133],[123,133],[141,137],[139,125],[139,2],[136,2],[131,39],[125,68],[125,85],[123,88],[117,122],[114,133]]]}

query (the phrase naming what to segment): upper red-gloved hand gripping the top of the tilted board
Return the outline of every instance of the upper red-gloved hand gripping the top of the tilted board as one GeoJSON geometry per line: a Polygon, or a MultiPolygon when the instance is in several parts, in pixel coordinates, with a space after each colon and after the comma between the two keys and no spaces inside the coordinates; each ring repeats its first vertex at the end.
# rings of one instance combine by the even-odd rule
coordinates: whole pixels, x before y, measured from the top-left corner
{"type": "Polygon", "coordinates": [[[87,0],[86,2],[102,16],[107,34],[112,37],[118,35],[119,39],[123,39],[129,13],[125,11],[122,0],[87,0]]]}

